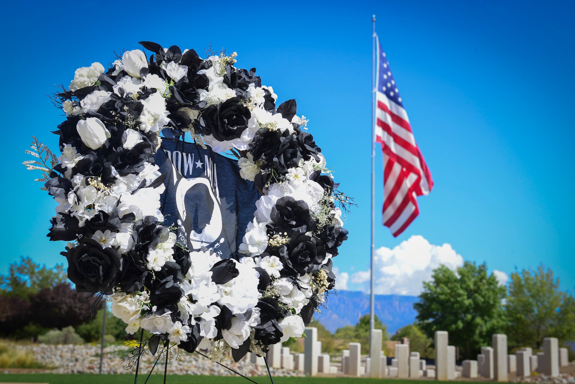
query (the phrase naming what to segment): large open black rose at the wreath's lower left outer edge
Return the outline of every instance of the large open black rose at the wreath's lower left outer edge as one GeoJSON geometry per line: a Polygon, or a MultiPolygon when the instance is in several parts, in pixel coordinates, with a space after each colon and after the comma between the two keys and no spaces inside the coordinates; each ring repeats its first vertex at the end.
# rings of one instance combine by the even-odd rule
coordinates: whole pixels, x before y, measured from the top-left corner
{"type": "Polygon", "coordinates": [[[68,279],[78,292],[111,293],[121,271],[116,249],[102,248],[98,241],[82,239],[61,255],[68,260],[68,279]]]}

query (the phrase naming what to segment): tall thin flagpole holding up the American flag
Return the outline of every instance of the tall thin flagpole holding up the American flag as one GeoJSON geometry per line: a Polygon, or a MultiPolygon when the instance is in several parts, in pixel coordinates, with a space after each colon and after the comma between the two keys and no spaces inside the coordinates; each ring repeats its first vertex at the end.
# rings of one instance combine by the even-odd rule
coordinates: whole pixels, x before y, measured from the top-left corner
{"type": "Polygon", "coordinates": [[[374,287],[374,260],[373,255],[375,252],[375,15],[371,18],[373,25],[373,34],[371,40],[373,49],[371,52],[371,267],[370,267],[370,290],[369,290],[369,329],[370,329],[370,344],[371,344],[371,329],[375,327],[374,310],[375,298],[373,294],[374,287]]]}

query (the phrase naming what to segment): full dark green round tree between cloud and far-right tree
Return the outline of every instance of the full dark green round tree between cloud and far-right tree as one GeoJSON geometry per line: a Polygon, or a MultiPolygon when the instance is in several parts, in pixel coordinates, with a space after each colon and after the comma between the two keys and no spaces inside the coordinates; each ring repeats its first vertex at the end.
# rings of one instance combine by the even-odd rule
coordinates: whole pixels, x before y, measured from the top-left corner
{"type": "Polygon", "coordinates": [[[413,305],[420,328],[430,338],[435,331],[449,332],[449,343],[457,345],[466,359],[489,345],[493,333],[506,328],[505,287],[487,274],[485,263],[465,262],[457,274],[440,266],[423,287],[420,301],[413,305]]]}

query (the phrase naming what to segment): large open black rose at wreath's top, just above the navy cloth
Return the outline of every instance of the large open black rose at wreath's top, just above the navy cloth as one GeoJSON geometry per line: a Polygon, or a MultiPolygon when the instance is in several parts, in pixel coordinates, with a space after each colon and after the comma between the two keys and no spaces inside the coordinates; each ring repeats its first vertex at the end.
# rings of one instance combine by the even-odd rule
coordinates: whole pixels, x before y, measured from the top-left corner
{"type": "MultiPolygon", "coordinates": [[[[250,110],[240,103],[238,97],[232,97],[218,104],[212,126],[206,126],[206,129],[211,130],[214,139],[218,141],[237,139],[247,128],[250,117],[250,110]]],[[[208,124],[205,118],[204,121],[208,124]]]]}

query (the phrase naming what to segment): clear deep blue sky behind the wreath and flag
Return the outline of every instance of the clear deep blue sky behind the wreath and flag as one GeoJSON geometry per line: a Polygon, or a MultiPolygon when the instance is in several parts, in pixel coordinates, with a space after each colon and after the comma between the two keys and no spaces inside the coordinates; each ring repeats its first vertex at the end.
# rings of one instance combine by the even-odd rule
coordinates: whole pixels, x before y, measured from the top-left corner
{"type": "MultiPolygon", "coordinates": [[[[21,162],[31,135],[57,149],[62,121],[45,96],[78,67],[112,62],[137,41],[237,51],[298,114],[358,208],[335,265],[369,263],[371,14],[435,187],[400,237],[449,243],[491,270],[551,267],[575,288],[571,199],[575,139],[573,3],[547,2],[11,2],[0,16],[5,165],[0,273],[21,255],[49,266],[55,203],[21,162]],[[193,4],[193,5],[192,5],[193,4]],[[217,5],[217,7],[215,7],[217,5]]],[[[378,212],[381,155],[376,159],[378,212]]],[[[378,220],[381,214],[378,213],[378,220]]]]}

